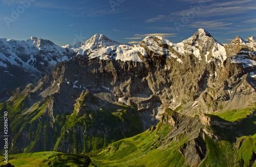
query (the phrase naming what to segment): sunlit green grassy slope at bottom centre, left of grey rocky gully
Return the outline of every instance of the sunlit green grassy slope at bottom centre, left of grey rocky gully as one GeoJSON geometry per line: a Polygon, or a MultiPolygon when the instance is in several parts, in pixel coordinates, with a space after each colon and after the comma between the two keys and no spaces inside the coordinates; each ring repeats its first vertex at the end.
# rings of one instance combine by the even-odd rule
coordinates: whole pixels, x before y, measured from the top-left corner
{"type": "Polygon", "coordinates": [[[175,166],[183,164],[184,158],[177,146],[166,147],[161,143],[172,130],[169,125],[158,124],[157,129],[146,130],[131,138],[110,144],[91,154],[97,166],[175,166]]]}

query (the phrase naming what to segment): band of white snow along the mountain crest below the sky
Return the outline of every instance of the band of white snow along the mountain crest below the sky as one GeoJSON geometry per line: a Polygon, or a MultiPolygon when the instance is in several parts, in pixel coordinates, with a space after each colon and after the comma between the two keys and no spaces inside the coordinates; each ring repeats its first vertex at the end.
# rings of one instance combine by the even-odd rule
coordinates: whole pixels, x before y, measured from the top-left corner
{"type": "MultiPolygon", "coordinates": [[[[195,57],[197,57],[200,61],[205,59],[207,63],[209,63],[211,60],[214,60],[214,59],[207,59],[209,54],[212,55],[212,57],[219,59],[220,63],[221,62],[223,63],[227,59],[225,47],[221,43],[219,43],[217,40],[215,40],[204,29],[198,29],[198,31],[193,36],[191,36],[186,40],[183,40],[180,43],[170,42],[169,40],[160,36],[156,36],[156,38],[147,36],[143,39],[141,44],[133,45],[133,46],[120,44],[116,41],[113,41],[105,37],[102,34],[95,34],[85,42],[78,42],[76,44],[68,44],[68,45],[62,45],[62,46],[58,46],[53,42],[51,42],[50,40],[44,40],[36,37],[30,37],[27,41],[7,40],[5,38],[1,38],[0,40],[3,42],[4,46],[6,46],[6,50],[10,54],[13,52],[12,49],[15,48],[17,45],[25,48],[24,53],[30,56],[38,54],[40,50],[46,51],[46,52],[53,51],[54,52],[53,54],[47,53],[48,55],[42,55],[44,59],[48,59],[48,63],[52,66],[56,65],[59,62],[70,60],[73,58],[73,57],[70,58],[66,55],[67,50],[69,50],[69,52],[71,51],[79,55],[88,55],[89,58],[99,58],[103,60],[113,59],[113,60],[120,60],[124,62],[126,61],[142,62],[142,60],[138,56],[138,52],[146,56],[147,53],[144,49],[146,47],[156,52],[157,53],[156,55],[166,55],[167,58],[170,58],[170,57],[175,58],[176,61],[180,63],[182,63],[182,60],[180,59],[179,54],[186,55],[187,53],[188,54],[193,53],[195,57]],[[167,44],[168,46],[172,47],[176,52],[170,51],[167,48],[160,47],[158,45],[159,41],[156,40],[156,38],[162,41],[163,44],[167,44]],[[197,38],[199,38],[200,40],[198,40],[197,38]],[[197,40],[195,41],[195,39],[197,40]],[[214,44],[212,44],[211,49],[207,50],[206,52],[205,46],[208,46],[209,41],[212,39],[214,40],[212,41],[214,44]],[[146,44],[145,47],[144,47],[144,44],[146,44]],[[142,45],[144,48],[142,47],[142,45]],[[205,55],[201,55],[202,51],[205,51],[205,55]],[[52,58],[51,56],[55,56],[55,57],[52,58]],[[207,60],[210,60],[210,61],[207,61],[207,60]]],[[[255,37],[250,37],[248,39],[254,40],[254,38],[255,37]]],[[[237,40],[243,43],[246,42],[247,43],[246,45],[250,44],[249,42],[241,39],[240,37],[239,38],[237,37],[237,40]]],[[[17,62],[14,62],[15,57],[18,57],[18,56],[12,55],[9,58],[9,60],[14,64],[19,65],[17,62]]],[[[20,61],[19,58],[17,59],[20,61]]],[[[30,57],[29,61],[31,61],[31,59],[32,57],[30,57]]],[[[24,64],[23,66],[29,65],[28,62],[22,62],[22,63],[24,64]]],[[[2,64],[4,63],[2,62],[2,64]]],[[[42,62],[40,64],[42,64],[42,62]]],[[[33,69],[31,68],[32,66],[31,67],[29,66],[27,66],[26,68],[33,69]]]]}

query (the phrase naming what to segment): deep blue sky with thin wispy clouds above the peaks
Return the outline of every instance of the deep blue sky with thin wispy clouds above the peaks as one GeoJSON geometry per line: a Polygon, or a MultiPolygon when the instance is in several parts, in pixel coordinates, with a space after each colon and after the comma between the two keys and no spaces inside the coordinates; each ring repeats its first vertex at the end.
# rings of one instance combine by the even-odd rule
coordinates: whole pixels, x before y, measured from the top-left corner
{"type": "Polygon", "coordinates": [[[0,38],[74,44],[103,34],[138,44],[146,36],[178,43],[200,28],[225,44],[256,36],[255,0],[0,0],[0,38]]]}

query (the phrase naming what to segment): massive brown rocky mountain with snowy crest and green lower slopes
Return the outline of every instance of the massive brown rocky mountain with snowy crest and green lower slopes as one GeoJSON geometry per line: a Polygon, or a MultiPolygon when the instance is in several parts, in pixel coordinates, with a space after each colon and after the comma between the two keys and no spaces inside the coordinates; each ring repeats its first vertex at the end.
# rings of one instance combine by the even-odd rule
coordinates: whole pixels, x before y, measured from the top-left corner
{"type": "MultiPolygon", "coordinates": [[[[255,166],[254,37],[223,45],[199,29],[177,44],[96,34],[51,46],[59,54],[56,66],[45,62],[50,74],[0,95],[10,153],[88,153],[97,166],[255,166]]],[[[2,64],[8,70],[8,59],[2,64]]]]}

